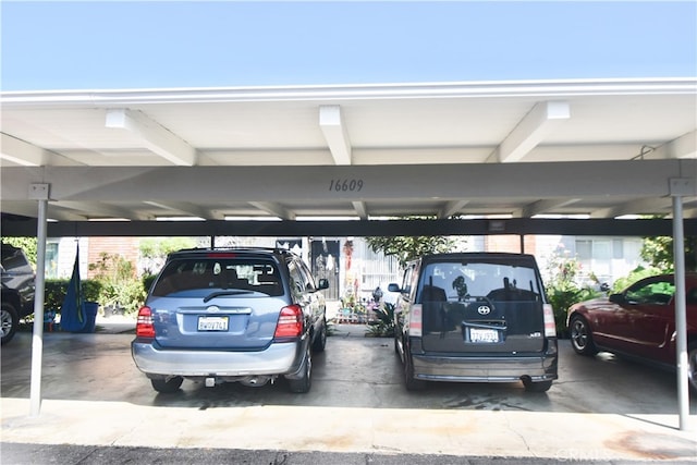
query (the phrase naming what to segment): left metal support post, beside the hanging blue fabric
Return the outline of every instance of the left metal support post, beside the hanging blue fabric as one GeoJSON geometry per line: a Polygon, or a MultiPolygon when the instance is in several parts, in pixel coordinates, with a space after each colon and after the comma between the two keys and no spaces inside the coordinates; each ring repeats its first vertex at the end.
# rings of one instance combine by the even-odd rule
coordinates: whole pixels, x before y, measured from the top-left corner
{"type": "Polygon", "coordinates": [[[48,196],[39,199],[36,228],[36,283],[34,297],[34,334],[32,336],[32,382],[29,415],[36,417],[41,409],[41,362],[44,358],[44,290],[46,276],[46,210],[48,196]]]}

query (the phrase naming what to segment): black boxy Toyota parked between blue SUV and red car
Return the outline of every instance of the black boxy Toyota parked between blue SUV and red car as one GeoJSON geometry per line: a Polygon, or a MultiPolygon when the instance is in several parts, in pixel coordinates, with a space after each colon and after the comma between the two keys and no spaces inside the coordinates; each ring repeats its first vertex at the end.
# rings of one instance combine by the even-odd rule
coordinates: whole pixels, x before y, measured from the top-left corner
{"type": "Polygon", "coordinates": [[[394,311],[407,390],[425,381],[514,382],[543,392],[558,377],[554,315],[531,255],[435,254],[408,264],[394,311]]]}

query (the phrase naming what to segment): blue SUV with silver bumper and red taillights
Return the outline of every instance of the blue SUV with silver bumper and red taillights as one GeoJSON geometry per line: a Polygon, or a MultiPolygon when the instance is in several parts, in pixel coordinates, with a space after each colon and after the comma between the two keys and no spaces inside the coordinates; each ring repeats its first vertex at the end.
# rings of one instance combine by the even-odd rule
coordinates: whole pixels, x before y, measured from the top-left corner
{"type": "Polygon", "coordinates": [[[138,311],[132,354],[159,392],[183,379],[260,387],[311,384],[311,353],[327,343],[325,297],[301,257],[282,249],[170,254],[138,311]]]}

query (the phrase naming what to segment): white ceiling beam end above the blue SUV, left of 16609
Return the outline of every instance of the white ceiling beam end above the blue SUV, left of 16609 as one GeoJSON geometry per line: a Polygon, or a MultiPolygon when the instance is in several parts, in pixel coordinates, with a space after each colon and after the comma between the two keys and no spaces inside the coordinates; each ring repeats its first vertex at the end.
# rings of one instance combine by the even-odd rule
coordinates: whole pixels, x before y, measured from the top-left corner
{"type": "Polygon", "coordinates": [[[123,108],[107,110],[105,125],[136,134],[146,148],[173,164],[193,167],[196,163],[197,154],[194,147],[140,111],[123,108]]]}

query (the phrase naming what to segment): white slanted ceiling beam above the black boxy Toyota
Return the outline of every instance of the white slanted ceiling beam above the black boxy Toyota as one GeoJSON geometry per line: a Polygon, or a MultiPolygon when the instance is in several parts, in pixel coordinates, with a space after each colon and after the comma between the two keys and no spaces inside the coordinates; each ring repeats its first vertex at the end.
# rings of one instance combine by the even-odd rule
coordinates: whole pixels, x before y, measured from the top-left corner
{"type": "Polygon", "coordinates": [[[571,110],[566,101],[541,101],[518,122],[487,161],[511,163],[519,161],[562,122],[571,110]]]}

